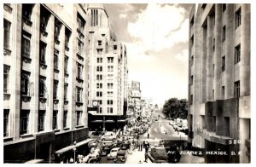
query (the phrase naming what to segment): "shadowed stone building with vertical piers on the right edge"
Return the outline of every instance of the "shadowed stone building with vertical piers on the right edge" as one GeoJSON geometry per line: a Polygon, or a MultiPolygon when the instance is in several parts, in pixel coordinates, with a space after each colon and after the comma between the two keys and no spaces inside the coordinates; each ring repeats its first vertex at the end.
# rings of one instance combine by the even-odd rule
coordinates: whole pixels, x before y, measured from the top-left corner
{"type": "Polygon", "coordinates": [[[189,143],[207,163],[250,162],[250,9],[203,3],[189,15],[189,143]]]}

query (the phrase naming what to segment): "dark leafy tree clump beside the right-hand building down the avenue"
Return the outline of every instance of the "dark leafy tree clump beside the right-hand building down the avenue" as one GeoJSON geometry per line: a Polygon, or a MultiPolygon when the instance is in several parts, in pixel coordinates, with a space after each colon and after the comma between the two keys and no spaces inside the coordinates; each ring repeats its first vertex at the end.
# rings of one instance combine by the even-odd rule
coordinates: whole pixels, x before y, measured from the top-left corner
{"type": "Polygon", "coordinates": [[[167,118],[187,118],[188,101],[178,100],[176,97],[171,98],[164,104],[162,112],[167,118]]]}

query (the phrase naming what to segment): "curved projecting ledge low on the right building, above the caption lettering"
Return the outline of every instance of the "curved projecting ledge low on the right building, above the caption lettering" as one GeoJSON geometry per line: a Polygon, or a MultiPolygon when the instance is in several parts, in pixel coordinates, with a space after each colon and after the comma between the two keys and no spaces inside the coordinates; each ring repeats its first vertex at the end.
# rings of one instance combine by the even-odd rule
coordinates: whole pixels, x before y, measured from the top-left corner
{"type": "Polygon", "coordinates": [[[197,135],[201,135],[207,141],[217,142],[223,145],[229,145],[229,141],[232,140],[230,136],[216,135],[216,132],[209,132],[205,129],[197,129],[197,135]]]}

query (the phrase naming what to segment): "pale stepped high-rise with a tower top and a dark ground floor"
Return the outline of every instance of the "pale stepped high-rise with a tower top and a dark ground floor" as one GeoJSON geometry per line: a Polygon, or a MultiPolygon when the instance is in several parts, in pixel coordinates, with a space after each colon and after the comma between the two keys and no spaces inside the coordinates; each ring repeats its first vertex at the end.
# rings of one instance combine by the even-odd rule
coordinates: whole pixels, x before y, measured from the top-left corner
{"type": "Polygon", "coordinates": [[[117,41],[102,4],[88,6],[90,130],[113,130],[126,124],[127,54],[117,41]]]}

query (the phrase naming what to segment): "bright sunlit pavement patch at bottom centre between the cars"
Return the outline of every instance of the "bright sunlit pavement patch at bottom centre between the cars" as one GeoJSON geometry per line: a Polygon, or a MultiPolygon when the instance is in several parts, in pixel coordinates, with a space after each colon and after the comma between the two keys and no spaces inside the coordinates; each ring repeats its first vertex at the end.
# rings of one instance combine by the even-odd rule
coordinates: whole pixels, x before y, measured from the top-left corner
{"type": "Polygon", "coordinates": [[[145,160],[145,149],[143,148],[143,151],[138,151],[135,149],[132,151],[132,154],[127,153],[127,160],[125,164],[139,164],[139,161],[142,161],[142,164],[152,164],[150,159],[148,158],[148,163],[144,162],[145,160]]]}

